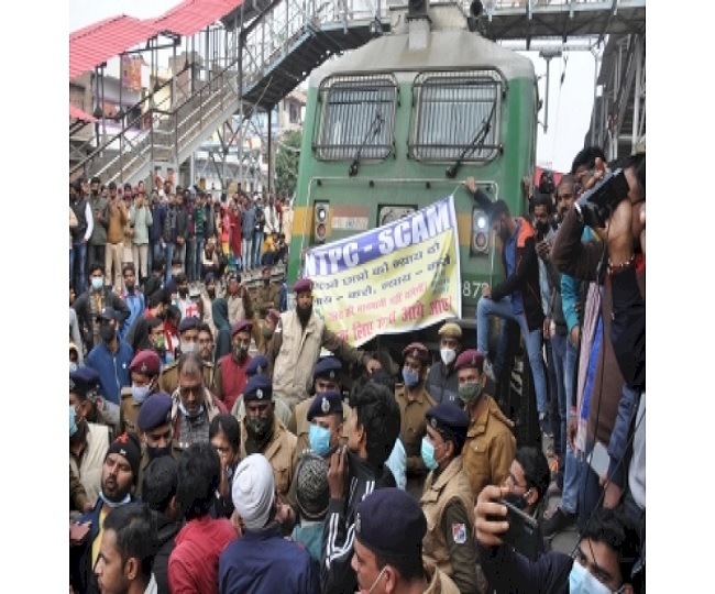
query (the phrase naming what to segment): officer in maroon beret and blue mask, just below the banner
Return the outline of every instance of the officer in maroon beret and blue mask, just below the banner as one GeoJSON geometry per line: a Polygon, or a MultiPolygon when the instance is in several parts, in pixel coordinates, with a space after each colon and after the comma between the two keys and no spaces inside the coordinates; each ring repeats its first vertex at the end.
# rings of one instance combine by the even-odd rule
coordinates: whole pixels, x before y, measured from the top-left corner
{"type": "Polygon", "coordinates": [[[403,384],[395,387],[395,399],[400,413],[399,437],[407,453],[407,491],[419,499],[427,476],[427,468],[420,455],[426,431],[425,414],[435,406],[425,387],[429,351],[422,343],[413,342],[403,351],[403,384]]]}

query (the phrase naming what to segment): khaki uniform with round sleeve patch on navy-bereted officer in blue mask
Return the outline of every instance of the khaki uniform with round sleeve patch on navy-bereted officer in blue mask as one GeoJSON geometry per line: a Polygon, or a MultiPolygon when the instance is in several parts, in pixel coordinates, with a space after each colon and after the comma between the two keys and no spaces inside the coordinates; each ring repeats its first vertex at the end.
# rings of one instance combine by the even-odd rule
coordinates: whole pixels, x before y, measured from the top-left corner
{"type": "Polygon", "coordinates": [[[449,575],[462,594],[477,592],[474,502],[462,457],[439,474],[430,472],[420,506],[427,518],[422,561],[427,571],[449,575]]]}

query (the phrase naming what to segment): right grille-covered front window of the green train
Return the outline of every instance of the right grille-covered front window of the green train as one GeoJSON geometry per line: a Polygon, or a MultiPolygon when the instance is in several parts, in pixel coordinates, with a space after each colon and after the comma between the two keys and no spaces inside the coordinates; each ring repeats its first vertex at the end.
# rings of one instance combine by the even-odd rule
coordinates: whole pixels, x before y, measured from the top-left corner
{"type": "Polygon", "coordinates": [[[502,76],[496,70],[421,73],[408,150],[419,161],[486,163],[498,154],[502,76]]]}

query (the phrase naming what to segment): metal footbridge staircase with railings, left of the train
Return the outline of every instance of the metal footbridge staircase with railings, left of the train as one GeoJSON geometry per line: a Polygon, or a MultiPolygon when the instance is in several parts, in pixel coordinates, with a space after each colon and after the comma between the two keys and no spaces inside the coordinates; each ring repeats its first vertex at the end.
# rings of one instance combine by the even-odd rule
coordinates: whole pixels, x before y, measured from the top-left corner
{"type": "MultiPolygon", "coordinates": [[[[178,170],[233,114],[245,118],[256,107],[273,109],[331,55],[360,47],[389,28],[386,7],[380,13],[353,11],[346,1],[337,0],[262,0],[248,7],[254,13],[265,8],[235,35],[238,47],[227,48],[238,57],[212,61],[205,72],[208,80],[188,99],[173,108],[153,106],[128,122],[73,167],[70,176],[81,170],[86,177],[135,185],[156,166],[178,170]],[[135,135],[138,129],[144,131],[135,135]]],[[[229,15],[223,22],[234,20],[229,15]]]]}

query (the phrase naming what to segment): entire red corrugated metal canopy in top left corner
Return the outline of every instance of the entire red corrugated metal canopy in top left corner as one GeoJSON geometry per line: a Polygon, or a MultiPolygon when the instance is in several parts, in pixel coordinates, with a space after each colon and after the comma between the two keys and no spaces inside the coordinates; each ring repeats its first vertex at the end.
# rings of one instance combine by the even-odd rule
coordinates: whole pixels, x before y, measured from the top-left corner
{"type": "Polygon", "coordinates": [[[125,14],[105,19],[69,35],[69,79],[151,40],[158,33],[194,35],[226,16],[244,0],[184,0],[153,20],[125,14]]]}

